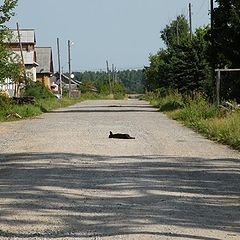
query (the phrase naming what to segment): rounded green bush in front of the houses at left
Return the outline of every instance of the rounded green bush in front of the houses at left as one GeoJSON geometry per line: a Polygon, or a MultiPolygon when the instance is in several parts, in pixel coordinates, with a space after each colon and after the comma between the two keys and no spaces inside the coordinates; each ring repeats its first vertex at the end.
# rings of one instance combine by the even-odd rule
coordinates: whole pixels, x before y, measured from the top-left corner
{"type": "Polygon", "coordinates": [[[53,98],[54,95],[41,82],[33,82],[25,86],[23,96],[33,96],[36,99],[53,98]]]}

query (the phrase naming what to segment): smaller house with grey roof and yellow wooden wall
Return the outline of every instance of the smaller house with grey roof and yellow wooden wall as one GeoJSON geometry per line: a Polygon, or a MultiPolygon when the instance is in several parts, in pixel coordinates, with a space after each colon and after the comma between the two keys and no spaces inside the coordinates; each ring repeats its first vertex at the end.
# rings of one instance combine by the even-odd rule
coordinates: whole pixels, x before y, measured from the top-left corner
{"type": "Polygon", "coordinates": [[[51,89],[53,83],[53,58],[51,47],[36,47],[37,80],[51,89]]]}

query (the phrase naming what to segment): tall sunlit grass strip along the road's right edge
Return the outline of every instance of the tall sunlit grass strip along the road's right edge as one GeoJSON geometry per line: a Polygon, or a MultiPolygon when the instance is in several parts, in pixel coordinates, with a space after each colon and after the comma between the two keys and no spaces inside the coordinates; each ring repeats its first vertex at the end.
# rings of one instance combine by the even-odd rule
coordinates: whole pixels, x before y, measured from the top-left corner
{"type": "Polygon", "coordinates": [[[180,121],[208,139],[240,150],[239,110],[226,112],[209,104],[201,95],[190,98],[177,92],[164,96],[151,93],[146,94],[145,98],[170,118],[180,121]]]}

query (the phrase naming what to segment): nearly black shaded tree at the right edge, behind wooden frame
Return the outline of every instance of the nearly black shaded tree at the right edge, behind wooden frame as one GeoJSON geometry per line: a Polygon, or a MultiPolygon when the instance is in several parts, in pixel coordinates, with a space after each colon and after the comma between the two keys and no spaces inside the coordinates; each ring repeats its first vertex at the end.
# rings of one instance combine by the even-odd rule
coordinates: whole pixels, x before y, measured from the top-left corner
{"type": "MultiPolygon", "coordinates": [[[[216,68],[240,68],[240,1],[216,0],[213,28],[216,68]]],[[[240,74],[225,73],[221,77],[221,97],[240,100],[240,74]]]]}

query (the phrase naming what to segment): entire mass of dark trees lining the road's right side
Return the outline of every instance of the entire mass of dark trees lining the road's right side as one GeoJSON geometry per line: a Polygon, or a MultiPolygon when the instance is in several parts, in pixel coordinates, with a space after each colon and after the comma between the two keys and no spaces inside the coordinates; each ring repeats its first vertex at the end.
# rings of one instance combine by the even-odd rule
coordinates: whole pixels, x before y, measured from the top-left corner
{"type": "MultiPolygon", "coordinates": [[[[181,93],[202,91],[214,96],[216,68],[240,67],[240,1],[216,0],[213,25],[191,35],[188,20],[179,15],[161,31],[165,48],[149,57],[145,67],[148,91],[173,88],[181,93]]],[[[240,100],[240,74],[224,74],[221,96],[240,100]]]]}

